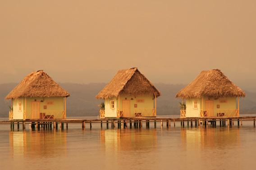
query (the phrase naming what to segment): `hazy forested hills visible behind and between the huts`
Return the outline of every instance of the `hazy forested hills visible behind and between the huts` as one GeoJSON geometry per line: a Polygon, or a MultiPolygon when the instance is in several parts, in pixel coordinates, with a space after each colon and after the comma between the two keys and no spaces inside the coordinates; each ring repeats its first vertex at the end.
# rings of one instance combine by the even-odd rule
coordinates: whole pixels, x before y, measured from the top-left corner
{"type": "MultiPolygon", "coordinates": [[[[10,100],[5,100],[5,96],[16,87],[18,83],[0,84],[0,118],[9,116],[10,100]]],[[[105,87],[106,83],[59,83],[70,96],[67,98],[67,116],[97,116],[99,115],[99,105],[102,100],[95,99],[95,96],[105,87]]],[[[162,96],[156,99],[157,115],[179,115],[178,101],[175,95],[186,85],[184,84],[164,84],[154,83],[162,96]]],[[[246,97],[240,99],[241,114],[256,113],[256,93],[245,91],[246,97]]]]}

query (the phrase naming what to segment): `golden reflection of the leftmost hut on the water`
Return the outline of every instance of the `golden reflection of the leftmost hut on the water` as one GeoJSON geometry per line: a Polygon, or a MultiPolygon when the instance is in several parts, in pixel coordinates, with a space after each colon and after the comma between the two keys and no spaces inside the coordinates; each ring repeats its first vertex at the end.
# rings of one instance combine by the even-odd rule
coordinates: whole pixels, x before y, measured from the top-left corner
{"type": "Polygon", "coordinates": [[[66,154],[66,131],[10,131],[9,144],[14,158],[63,155],[66,154]]]}

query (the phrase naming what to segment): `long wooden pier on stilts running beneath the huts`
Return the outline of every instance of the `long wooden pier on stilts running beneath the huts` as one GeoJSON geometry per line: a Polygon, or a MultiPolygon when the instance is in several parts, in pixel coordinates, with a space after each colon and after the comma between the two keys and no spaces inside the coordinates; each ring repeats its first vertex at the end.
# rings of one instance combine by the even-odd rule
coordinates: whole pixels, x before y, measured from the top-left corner
{"type": "Polygon", "coordinates": [[[92,128],[92,124],[101,123],[101,128],[103,124],[106,124],[106,128],[122,128],[127,127],[142,127],[145,123],[146,127],[150,126],[150,122],[154,123],[156,127],[157,123],[161,123],[161,127],[166,124],[169,128],[172,125],[175,127],[175,123],[180,122],[180,126],[184,127],[185,122],[187,122],[187,126],[207,126],[212,125],[216,126],[217,122],[219,122],[219,126],[234,126],[234,122],[237,122],[238,126],[242,126],[243,121],[251,121],[252,125],[255,127],[255,119],[256,117],[207,117],[207,118],[120,118],[120,119],[37,119],[37,120],[9,120],[9,121],[0,121],[0,124],[9,124],[11,129],[14,129],[14,125],[17,126],[17,129],[22,126],[23,129],[26,128],[26,124],[30,124],[32,128],[46,128],[46,129],[57,129],[58,126],[60,129],[64,129],[64,124],[66,124],[66,128],[68,129],[68,124],[78,123],[82,125],[82,129],[85,129],[85,124],[90,124],[90,128],[92,128]]]}

